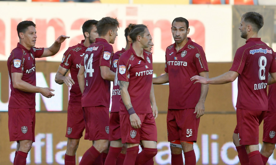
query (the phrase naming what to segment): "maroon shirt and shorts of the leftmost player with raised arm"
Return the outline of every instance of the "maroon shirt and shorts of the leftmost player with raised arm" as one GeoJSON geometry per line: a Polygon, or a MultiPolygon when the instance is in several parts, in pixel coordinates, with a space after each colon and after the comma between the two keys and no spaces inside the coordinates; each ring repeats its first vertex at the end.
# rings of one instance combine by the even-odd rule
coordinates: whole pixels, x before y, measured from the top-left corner
{"type": "Polygon", "coordinates": [[[32,140],[35,142],[35,93],[15,89],[12,73],[23,73],[22,80],[36,86],[35,58],[40,58],[44,48],[27,50],[17,43],[7,61],[10,76],[9,135],[10,141],[32,140]]]}

